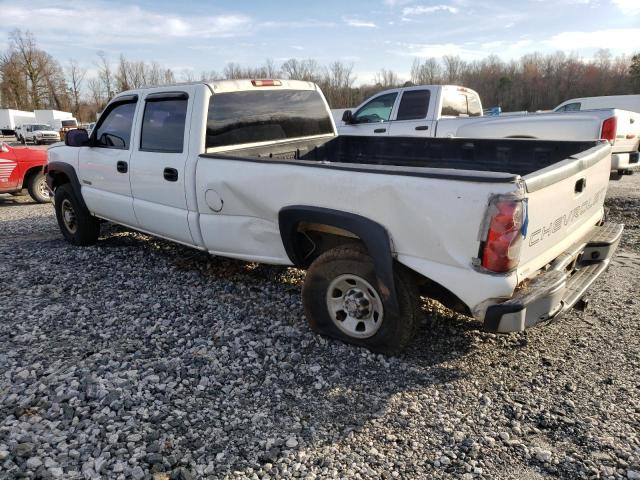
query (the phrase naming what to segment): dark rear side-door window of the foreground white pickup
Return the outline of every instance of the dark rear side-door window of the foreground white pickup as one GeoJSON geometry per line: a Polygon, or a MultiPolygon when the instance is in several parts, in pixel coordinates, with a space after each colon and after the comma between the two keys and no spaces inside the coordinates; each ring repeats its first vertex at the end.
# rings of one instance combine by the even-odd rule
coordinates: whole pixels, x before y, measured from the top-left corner
{"type": "Polygon", "coordinates": [[[186,114],[186,98],[147,100],[142,119],[140,150],[182,152],[186,114]]]}

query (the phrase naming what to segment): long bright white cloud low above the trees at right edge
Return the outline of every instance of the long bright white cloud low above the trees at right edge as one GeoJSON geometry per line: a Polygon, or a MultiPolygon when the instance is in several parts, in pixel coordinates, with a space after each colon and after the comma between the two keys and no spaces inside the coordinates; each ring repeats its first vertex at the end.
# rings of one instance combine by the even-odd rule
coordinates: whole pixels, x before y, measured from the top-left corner
{"type": "Polygon", "coordinates": [[[612,51],[640,48],[640,28],[610,28],[593,32],[562,32],[545,41],[558,50],[607,48],[612,51]]]}

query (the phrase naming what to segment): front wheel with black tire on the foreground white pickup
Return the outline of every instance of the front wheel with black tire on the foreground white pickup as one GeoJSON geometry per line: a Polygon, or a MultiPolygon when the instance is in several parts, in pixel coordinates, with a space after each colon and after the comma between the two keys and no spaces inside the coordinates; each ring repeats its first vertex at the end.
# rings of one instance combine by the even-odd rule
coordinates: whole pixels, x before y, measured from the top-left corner
{"type": "Polygon", "coordinates": [[[81,205],[71,186],[60,185],[54,198],[58,226],[65,240],[78,246],[96,243],[100,235],[100,221],[81,205]]]}

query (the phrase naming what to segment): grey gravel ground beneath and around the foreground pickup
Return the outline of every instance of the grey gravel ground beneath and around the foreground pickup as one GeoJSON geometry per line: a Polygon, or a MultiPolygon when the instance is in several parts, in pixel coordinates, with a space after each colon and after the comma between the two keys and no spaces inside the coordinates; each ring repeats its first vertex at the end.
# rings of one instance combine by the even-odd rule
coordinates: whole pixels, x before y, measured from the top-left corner
{"type": "Polygon", "coordinates": [[[522,334],[425,305],[399,358],[307,328],[302,273],[0,196],[0,478],[640,479],[640,175],[591,307],[522,334]]]}

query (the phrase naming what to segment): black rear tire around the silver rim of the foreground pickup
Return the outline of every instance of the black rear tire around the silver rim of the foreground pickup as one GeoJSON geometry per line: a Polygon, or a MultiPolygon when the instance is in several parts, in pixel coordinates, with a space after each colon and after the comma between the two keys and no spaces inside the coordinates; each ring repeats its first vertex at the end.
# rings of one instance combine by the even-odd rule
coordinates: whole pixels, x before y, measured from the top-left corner
{"type": "MultiPolygon", "coordinates": [[[[409,271],[400,264],[394,267],[399,314],[384,311],[381,324],[375,333],[367,338],[357,338],[338,327],[338,318],[332,318],[328,306],[329,288],[333,282],[339,281],[339,278],[355,275],[373,287],[373,299],[376,295],[379,297],[373,260],[364,249],[353,245],[336,247],[320,255],[309,267],[302,287],[304,311],[311,329],[321,335],[363,346],[376,353],[394,355],[401,352],[415,337],[419,325],[420,296],[409,271]]],[[[346,296],[342,295],[341,298],[346,296]]],[[[342,314],[345,311],[342,311],[342,314]]],[[[365,313],[367,311],[365,310],[365,313]]]]}

